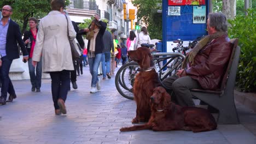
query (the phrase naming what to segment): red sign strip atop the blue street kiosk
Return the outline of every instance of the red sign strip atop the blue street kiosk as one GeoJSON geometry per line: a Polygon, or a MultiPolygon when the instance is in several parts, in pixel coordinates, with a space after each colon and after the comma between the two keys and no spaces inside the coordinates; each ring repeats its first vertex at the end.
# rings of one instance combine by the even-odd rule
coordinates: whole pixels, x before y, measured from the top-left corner
{"type": "Polygon", "coordinates": [[[168,0],[168,5],[205,5],[205,0],[168,0]]]}

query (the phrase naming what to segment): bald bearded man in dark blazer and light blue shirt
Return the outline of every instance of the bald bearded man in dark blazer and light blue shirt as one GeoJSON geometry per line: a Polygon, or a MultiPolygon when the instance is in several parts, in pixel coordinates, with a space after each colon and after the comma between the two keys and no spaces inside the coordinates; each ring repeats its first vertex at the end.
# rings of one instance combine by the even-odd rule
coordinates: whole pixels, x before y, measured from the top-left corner
{"type": "Polygon", "coordinates": [[[17,41],[21,47],[24,62],[28,60],[28,53],[21,38],[19,25],[10,19],[13,9],[10,5],[4,5],[1,11],[3,18],[0,21],[0,54],[2,56],[2,66],[0,67],[2,82],[0,104],[5,105],[7,92],[10,94],[8,101],[13,101],[16,98],[13,83],[11,83],[9,77],[9,70],[13,59],[20,57],[17,41]]]}

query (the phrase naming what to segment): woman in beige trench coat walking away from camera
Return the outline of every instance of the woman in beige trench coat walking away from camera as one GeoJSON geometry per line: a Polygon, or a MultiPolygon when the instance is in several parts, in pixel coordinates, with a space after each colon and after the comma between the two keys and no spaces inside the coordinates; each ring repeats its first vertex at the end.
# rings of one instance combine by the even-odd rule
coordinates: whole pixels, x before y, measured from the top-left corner
{"type": "MultiPolygon", "coordinates": [[[[67,113],[65,101],[70,87],[70,70],[74,70],[63,8],[65,3],[62,0],[51,1],[52,11],[40,20],[32,57],[32,64],[35,66],[42,56],[43,73],[50,73],[56,115],[67,113]]],[[[69,37],[73,40],[76,33],[69,17],[68,30],[69,37]]]]}

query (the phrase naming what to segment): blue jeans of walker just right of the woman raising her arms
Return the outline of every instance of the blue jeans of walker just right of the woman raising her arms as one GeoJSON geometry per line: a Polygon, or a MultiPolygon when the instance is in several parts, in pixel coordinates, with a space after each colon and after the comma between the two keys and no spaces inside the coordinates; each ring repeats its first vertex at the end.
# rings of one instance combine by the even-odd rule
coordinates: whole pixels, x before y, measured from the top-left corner
{"type": "Polygon", "coordinates": [[[106,78],[106,74],[110,73],[110,52],[104,52],[101,57],[101,67],[103,77],[106,78]]]}

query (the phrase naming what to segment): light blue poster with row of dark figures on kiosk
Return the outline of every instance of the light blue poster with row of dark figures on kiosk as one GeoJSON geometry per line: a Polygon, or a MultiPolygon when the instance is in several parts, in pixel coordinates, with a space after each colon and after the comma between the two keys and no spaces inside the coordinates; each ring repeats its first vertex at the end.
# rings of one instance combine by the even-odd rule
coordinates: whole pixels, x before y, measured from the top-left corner
{"type": "Polygon", "coordinates": [[[193,23],[206,23],[205,5],[193,7],[193,23]]]}

